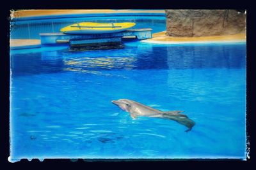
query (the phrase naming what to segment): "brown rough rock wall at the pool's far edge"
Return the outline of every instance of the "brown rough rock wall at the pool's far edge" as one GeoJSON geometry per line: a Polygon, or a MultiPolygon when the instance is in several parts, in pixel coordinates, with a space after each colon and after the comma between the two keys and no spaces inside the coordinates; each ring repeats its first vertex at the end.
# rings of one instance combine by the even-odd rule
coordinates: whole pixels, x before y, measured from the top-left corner
{"type": "Polygon", "coordinates": [[[245,31],[246,15],[237,10],[165,10],[166,35],[200,37],[245,31]]]}

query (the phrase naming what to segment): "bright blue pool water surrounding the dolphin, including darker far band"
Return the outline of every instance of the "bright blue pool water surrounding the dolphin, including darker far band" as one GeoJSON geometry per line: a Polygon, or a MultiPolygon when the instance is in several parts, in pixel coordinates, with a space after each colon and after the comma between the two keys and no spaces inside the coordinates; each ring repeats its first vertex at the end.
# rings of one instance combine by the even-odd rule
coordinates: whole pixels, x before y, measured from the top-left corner
{"type": "Polygon", "coordinates": [[[246,45],[11,52],[11,157],[246,158],[246,45]],[[111,103],[184,110],[192,131],[111,103]]]}

